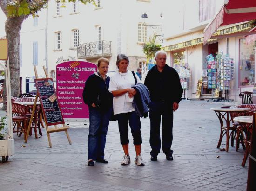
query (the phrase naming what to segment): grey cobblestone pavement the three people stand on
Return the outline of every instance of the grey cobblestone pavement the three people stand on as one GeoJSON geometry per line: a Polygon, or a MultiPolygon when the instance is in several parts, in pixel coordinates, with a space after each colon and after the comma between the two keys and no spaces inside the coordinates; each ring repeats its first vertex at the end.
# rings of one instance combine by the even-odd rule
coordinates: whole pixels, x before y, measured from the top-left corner
{"type": "MultiPolygon", "coordinates": [[[[173,161],[167,161],[162,151],[157,162],[150,161],[149,118],[141,119],[141,155],[145,166],[135,165],[132,144],[129,149],[132,162],[121,166],[123,152],[117,121],[111,121],[108,128],[105,158],[109,163],[95,163],[94,167],[86,165],[88,128],[71,125],[72,145],[68,144],[65,133],[52,133],[53,148],[48,146],[45,131],[39,139],[34,135],[29,137],[27,144],[15,134],[15,155],[7,163],[0,163],[0,190],[246,190],[248,162],[241,166],[243,149],[236,152],[235,147],[230,147],[228,153],[216,149],[220,124],[210,108],[221,104],[180,103],[174,120],[173,161]]],[[[224,147],[222,142],[221,148],[224,147]]]]}

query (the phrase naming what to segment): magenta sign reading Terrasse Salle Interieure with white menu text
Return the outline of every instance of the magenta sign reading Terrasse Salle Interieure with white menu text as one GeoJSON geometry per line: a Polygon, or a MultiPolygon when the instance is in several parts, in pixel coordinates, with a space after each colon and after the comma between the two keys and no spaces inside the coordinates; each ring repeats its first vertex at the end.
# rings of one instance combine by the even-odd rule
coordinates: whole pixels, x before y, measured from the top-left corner
{"type": "MultiPolygon", "coordinates": [[[[70,61],[56,66],[57,96],[66,122],[87,122],[88,106],[82,93],[87,78],[93,74],[96,65],[83,61],[70,61]]],[[[95,87],[96,88],[96,87],[95,87]]]]}

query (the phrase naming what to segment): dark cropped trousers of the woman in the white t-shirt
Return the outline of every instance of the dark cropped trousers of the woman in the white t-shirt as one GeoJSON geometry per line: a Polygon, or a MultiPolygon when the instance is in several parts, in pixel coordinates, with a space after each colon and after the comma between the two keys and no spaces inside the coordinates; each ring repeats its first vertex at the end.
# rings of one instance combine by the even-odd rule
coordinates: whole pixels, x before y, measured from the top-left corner
{"type": "Polygon", "coordinates": [[[135,113],[135,111],[117,114],[118,128],[120,134],[120,142],[122,145],[126,145],[129,143],[128,138],[128,124],[131,127],[131,132],[133,135],[133,144],[141,145],[141,121],[139,115],[135,113]]]}

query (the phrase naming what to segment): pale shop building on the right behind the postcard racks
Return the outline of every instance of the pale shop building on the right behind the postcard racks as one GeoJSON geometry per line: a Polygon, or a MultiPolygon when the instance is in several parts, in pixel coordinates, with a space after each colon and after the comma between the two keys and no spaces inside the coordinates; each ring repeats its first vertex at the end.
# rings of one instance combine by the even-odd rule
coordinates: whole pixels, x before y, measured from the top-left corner
{"type": "MultiPolygon", "coordinates": [[[[234,36],[212,39],[207,44],[203,44],[203,30],[222,5],[222,0],[191,0],[190,2],[184,0],[180,5],[182,8],[179,8],[183,12],[176,13],[177,17],[182,19],[171,26],[177,30],[172,31],[173,33],[165,38],[162,50],[167,52],[167,63],[179,70],[182,66],[180,78],[182,85],[184,85],[183,89],[185,89],[184,98],[222,97],[226,100],[240,101],[238,96],[240,92],[252,92],[255,83],[255,48],[253,43],[247,45],[245,37],[239,35],[239,32],[246,32],[251,29],[249,22],[221,26],[215,35],[233,34],[234,36]],[[194,17],[189,17],[189,14],[193,14],[194,17]],[[233,77],[229,82],[229,89],[223,90],[222,95],[219,96],[215,95],[217,92],[215,88],[209,89],[206,59],[209,54],[213,56],[221,54],[222,57],[228,56],[232,60],[231,68],[234,73],[232,73],[233,77]],[[201,80],[202,87],[198,86],[199,80],[201,80]]],[[[173,17],[173,15],[168,17],[173,17]]],[[[168,29],[170,25],[166,21],[163,25],[164,29],[170,31],[168,29]]],[[[165,30],[164,33],[166,33],[165,30]]],[[[226,73],[230,74],[229,72],[226,73]]],[[[225,77],[222,79],[225,80],[225,77]]],[[[221,82],[220,79],[219,81],[221,82]]]]}

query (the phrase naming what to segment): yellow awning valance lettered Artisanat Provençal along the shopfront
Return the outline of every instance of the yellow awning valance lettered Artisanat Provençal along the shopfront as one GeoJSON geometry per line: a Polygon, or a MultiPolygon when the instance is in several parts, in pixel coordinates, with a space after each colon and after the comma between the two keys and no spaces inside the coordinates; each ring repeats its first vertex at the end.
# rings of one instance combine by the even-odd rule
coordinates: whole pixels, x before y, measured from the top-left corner
{"type": "MultiPolygon", "coordinates": [[[[216,35],[232,34],[232,33],[240,32],[240,31],[247,30],[247,29],[250,29],[249,22],[219,30],[212,36],[214,37],[216,35]]],[[[212,39],[210,39],[209,41],[211,41],[211,40],[212,39]]],[[[196,38],[196,39],[189,40],[189,41],[182,42],[182,43],[178,43],[178,44],[175,44],[175,45],[165,46],[165,47],[162,47],[161,49],[163,51],[174,51],[174,50],[178,50],[178,49],[182,49],[182,48],[185,48],[185,47],[198,45],[198,44],[202,44],[202,43],[203,43],[203,37],[196,38]]]]}

